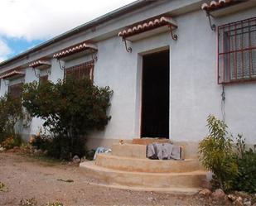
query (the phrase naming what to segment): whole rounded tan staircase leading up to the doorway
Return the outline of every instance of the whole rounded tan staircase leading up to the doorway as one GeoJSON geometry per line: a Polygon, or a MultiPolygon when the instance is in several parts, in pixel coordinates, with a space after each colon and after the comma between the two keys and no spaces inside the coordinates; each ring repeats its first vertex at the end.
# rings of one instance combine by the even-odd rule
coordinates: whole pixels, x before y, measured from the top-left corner
{"type": "Polygon", "coordinates": [[[206,172],[198,160],[149,160],[146,146],[168,140],[134,139],[114,144],[112,152],[80,164],[87,176],[105,186],[146,191],[193,194],[207,186],[206,172]]]}

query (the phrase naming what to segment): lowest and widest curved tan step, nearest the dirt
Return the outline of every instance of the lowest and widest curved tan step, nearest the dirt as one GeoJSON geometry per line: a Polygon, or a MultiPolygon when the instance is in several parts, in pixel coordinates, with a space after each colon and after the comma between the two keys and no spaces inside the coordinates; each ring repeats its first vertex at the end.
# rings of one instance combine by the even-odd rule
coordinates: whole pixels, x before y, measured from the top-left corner
{"type": "Polygon", "coordinates": [[[95,165],[94,161],[80,163],[80,169],[94,179],[129,187],[199,189],[207,184],[206,172],[202,170],[182,173],[130,172],[104,168],[95,165]]]}

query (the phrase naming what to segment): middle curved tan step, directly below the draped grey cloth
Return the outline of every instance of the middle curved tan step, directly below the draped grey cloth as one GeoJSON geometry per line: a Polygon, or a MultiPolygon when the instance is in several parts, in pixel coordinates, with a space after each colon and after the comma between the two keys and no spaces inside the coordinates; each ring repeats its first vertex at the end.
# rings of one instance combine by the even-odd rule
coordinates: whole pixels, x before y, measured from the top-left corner
{"type": "Polygon", "coordinates": [[[114,170],[150,173],[191,172],[201,169],[196,159],[149,160],[146,158],[114,156],[110,153],[98,154],[95,164],[114,170]]]}

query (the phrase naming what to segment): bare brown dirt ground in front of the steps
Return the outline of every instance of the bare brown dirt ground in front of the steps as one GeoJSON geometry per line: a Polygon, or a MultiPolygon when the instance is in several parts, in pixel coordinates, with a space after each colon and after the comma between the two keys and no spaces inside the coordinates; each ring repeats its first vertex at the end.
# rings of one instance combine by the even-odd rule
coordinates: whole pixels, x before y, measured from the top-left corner
{"type": "Polygon", "coordinates": [[[196,195],[161,194],[109,189],[95,185],[78,165],[47,162],[9,152],[0,153],[0,205],[19,205],[36,199],[38,205],[60,201],[65,206],[82,205],[225,205],[196,195]],[[62,180],[74,180],[65,182],[62,180]]]}

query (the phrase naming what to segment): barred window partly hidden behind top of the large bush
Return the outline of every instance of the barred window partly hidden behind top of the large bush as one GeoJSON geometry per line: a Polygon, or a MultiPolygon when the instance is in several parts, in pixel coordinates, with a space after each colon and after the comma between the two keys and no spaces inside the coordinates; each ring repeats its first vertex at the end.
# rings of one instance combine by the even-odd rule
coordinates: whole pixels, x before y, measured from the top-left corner
{"type": "Polygon", "coordinates": [[[85,77],[89,77],[89,79],[93,80],[93,72],[94,72],[94,61],[88,61],[80,65],[75,65],[70,68],[65,69],[65,78],[67,75],[75,76],[75,79],[83,79],[85,77]]]}

